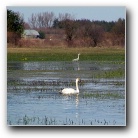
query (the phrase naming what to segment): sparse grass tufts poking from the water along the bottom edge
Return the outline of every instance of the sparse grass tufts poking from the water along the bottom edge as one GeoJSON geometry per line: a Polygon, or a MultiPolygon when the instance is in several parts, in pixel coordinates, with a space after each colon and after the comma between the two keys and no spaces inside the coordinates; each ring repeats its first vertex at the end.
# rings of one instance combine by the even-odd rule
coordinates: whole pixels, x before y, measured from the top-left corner
{"type": "MultiPolygon", "coordinates": [[[[13,122],[11,120],[8,120],[7,121],[9,125],[14,125],[13,122]]],[[[58,119],[55,119],[54,117],[30,117],[30,116],[27,116],[27,115],[24,115],[22,118],[18,119],[17,122],[16,122],[16,125],[23,125],[23,126],[33,126],[33,125],[45,125],[45,126],[64,126],[64,125],[67,125],[67,126],[80,126],[80,125],[116,125],[116,121],[113,120],[113,121],[107,121],[106,119],[104,120],[99,120],[99,119],[89,119],[86,120],[85,119],[79,119],[79,120],[74,120],[74,119],[71,119],[71,118],[65,118],[64,120],[58,120],[58,119]]]]}

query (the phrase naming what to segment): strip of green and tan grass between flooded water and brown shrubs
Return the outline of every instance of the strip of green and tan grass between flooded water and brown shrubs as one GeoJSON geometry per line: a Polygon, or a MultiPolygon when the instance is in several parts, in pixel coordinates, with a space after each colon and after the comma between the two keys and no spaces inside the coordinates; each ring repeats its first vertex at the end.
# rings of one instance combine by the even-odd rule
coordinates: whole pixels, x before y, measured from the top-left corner
{"type": "Polygon", "coordinates": [[[80,61],[124,61],[124,48],[8,48],[8,61],[71,61],[81,53],[80,61]]]}

